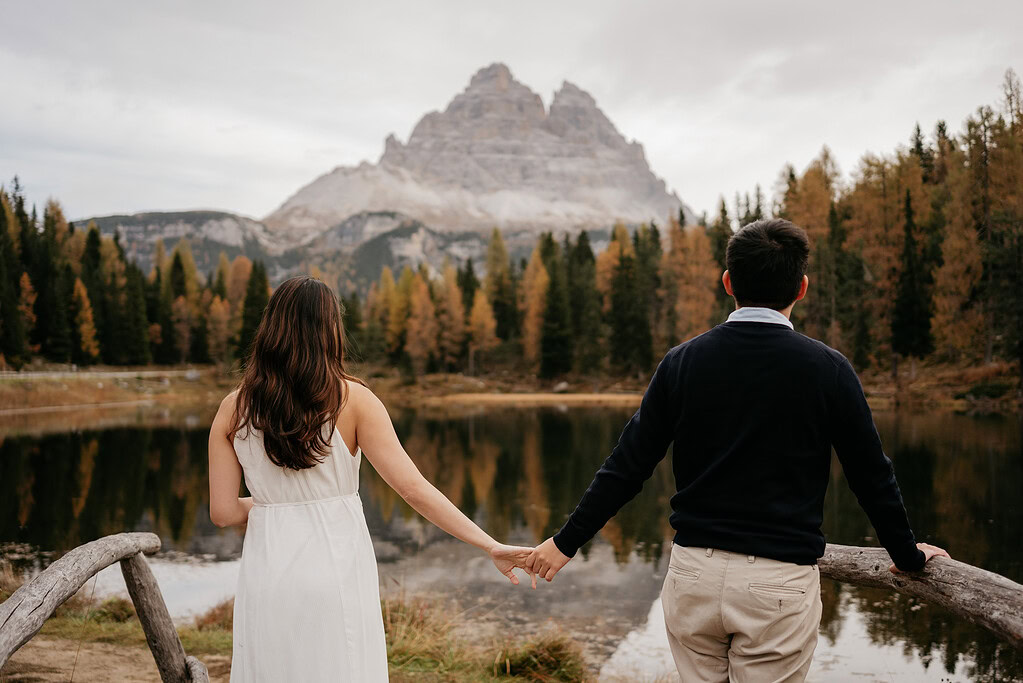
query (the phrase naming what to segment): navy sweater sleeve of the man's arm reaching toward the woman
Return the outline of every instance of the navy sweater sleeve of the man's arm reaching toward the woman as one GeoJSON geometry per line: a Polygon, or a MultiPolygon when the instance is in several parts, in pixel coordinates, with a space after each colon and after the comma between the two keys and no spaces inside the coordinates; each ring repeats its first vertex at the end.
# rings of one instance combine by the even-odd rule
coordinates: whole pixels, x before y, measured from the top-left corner
{"type": "Polygon", "coordinates": [[[664,357],[643,394],[639,409],[626,423],[618,444],[593,476],[562,530],[554,535],[559,550],[572,557],[608,520],[642,489],[674,438],[674,356],[664,357]]]}

